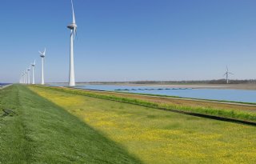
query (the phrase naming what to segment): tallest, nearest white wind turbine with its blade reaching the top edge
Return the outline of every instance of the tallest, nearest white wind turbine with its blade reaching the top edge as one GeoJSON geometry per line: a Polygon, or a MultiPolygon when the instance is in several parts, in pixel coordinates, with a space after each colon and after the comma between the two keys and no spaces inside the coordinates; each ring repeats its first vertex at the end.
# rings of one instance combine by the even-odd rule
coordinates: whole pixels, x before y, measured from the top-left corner
{"type": "Polygon", "coordinates": [[[69,80],[69,86],[75,86],[74,81],[74,36],[77,33],[77,25],[75,24],[75,17],[74,17],[74,6],[73,6],[73,0],[71,0],[72,5],[72,14],[73,14],[73,22],[67,26],[67,28],[70,29],[70,80],[69,80]]]}

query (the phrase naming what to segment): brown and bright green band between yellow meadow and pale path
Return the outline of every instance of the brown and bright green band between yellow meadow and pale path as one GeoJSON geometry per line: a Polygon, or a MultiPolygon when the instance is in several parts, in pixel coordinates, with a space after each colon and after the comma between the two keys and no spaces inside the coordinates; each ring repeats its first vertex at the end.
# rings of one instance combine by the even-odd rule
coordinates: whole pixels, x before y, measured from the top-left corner
{"type": "MultiPolygon", "coordinates": [[[[256,122],[256,114],[255,114],[255,106],[246,106],[250,108],[250,110],[245,110],[245,106],[240,106],[241,110],[238,109],[239,106],[233,108],[234,105],[226,105],[232,106],[230,108],[222,108],[223,104],[218,104],[212,106],[212,103],[205,103],[205,102],[193,102],[193,101],[181,101],[178,100],[178,103],[173,103],[170,99],[168,101],[162,101],[162,98],[146,98],[139,95],[132,95],[132,94],[118,94],[118,93],[99,93],[95,91],[88,91],[88,90],[77,90],[77,89],[70,89],[64,87],[52,87],[52,86],[36,86],[42,87],[49,90],[59,90],[71,94],[80,94],[85,96],[90,96],[94,98],[103,98],[108,100],[113,100],[117,102],[127,102],[131,104],[137,104],[142,106],[151,106],[155,108],[161,108],[165,110],[177,110],[177,111],[184,111],[184,112],[191,112],[194,114],[207,114],[212,116],[218,116],[222,118],[234,118],[238,120],[244,120],[248,122],[256,122]],[[161,101],[159,101],[161,99],[161,101]],[[189,105],[190,103],[191,105],[189,105]],[[198,104],[198,105],[195,105],[198,104]],[[211,105],[210,105],[211,104],[211,105]],[[219,107],[218,107],[219,106],[219,107]]],[[[174,99],[173,99],[174,100],[174,99]]],[[[175,100],[177,102],[177,100],[175,100]]]]}

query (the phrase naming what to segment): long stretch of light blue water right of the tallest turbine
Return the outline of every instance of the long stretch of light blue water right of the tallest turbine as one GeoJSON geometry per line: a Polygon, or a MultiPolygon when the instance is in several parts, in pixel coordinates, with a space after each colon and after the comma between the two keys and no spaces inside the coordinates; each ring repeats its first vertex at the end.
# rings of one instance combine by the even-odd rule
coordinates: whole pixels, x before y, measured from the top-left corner
{"type": "Polygon", "coordinates": [[[192,89],[167,88],[154,86],[115,86],[115,85],[86,85],[75,88],[89,90],[124,91],[139,94],[161,94],[182,98],[201,98],[225,100],[234,102],[256,102],[256,90],[221,90],[221,89],[192,89]]]}

